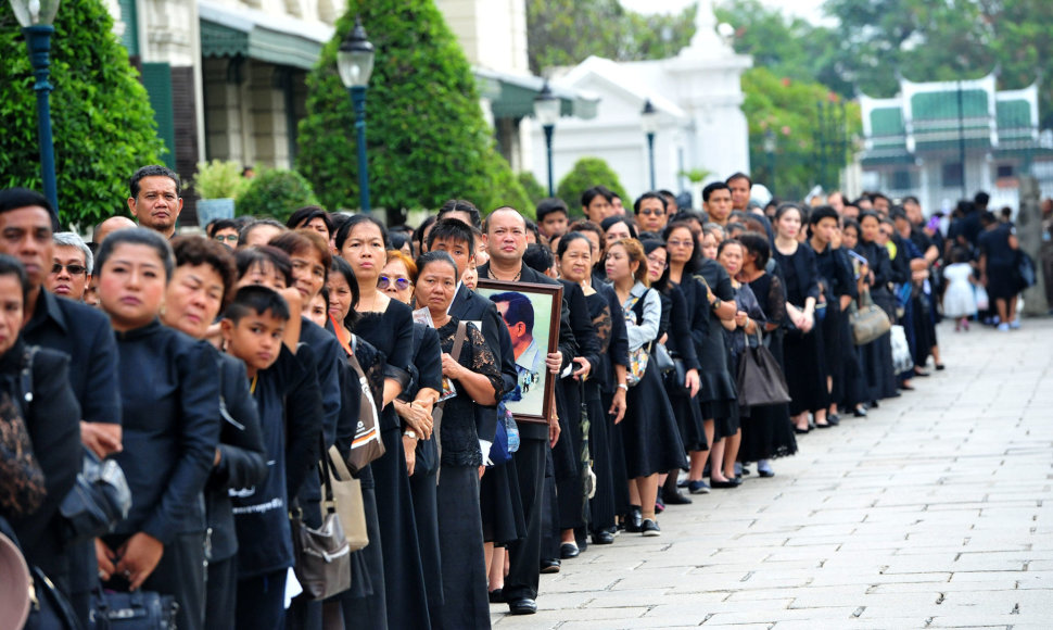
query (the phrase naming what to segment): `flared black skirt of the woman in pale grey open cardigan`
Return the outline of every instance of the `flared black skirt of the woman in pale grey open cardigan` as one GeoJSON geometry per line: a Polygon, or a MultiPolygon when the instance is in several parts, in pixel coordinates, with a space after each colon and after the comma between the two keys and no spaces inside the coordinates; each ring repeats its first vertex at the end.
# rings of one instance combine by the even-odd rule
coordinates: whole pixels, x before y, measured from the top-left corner
{"type": "Polygon", "coordinates": [[[655,362],[636,387],[630,388],[622,420],[622,448],[629,479],[687,468],[684,442],[655,362]]]}

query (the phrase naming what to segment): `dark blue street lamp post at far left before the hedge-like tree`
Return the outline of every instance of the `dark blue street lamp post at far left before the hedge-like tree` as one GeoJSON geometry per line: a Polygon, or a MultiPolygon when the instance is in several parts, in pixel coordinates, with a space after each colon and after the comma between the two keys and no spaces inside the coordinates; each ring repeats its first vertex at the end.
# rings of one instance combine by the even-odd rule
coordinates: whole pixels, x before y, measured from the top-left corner
{"type": "Polygon", "coordinates": [[[54,140],[51,136],[51,34],[54,33],[55,12],[59,0],[11,0],[11,9],[22,25],[22,33],[29,48],[29,64],[37,83],[37,142],[40,146],[40,176],[43,194],[54,211],[52,219],[59,220],[59,187],[55,184],[54,140]]]}

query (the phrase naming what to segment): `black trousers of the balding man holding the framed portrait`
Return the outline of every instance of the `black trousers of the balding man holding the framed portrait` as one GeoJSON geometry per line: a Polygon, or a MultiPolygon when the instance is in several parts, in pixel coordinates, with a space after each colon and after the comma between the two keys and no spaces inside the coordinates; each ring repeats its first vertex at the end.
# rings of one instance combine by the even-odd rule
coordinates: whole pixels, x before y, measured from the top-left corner
{"type": "MultiPolygon", "coordinates": [[[[533,429],[533,427],[531,427],[533,429]]],[[[509,547],[508,576],[505,578],[506,601],[537,597],[541,578],[542,503],[544,501],[547,440],[522,437],[516,452],[519,493],[523,500],[526,538],[509,547]]]]}

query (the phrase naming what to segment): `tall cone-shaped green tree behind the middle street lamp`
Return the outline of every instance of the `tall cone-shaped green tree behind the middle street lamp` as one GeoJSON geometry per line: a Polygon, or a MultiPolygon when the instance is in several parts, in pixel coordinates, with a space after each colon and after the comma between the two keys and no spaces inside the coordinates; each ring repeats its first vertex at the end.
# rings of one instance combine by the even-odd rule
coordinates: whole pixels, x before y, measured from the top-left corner
{"type": "Polygon", "coordinates": [[[350,0],[307,76],[297,167],[322,203],[357,206],[355,117],[337,73],[337,49],[355,15],[377,50],[366,143],[372,201],[389,223],[451,198],[489,210],[522,204],[526,193],[494,148],[468,60],[432,0],[350,0]]]}

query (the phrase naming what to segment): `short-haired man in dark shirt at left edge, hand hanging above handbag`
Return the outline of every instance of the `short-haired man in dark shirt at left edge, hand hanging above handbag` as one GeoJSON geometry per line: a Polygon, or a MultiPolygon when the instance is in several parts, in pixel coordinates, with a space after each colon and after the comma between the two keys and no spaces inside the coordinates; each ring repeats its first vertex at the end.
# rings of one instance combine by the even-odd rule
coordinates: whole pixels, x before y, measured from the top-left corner
{"type": "MultiPolygon", "coordinates": [[[[22,331],[26,343],[69,356],[69,386],[80,403],[80,440],[100,457],[120,451],[117,343],[101,311],[45,290],[53,264],[51,204],[24,188],[0,191],[0,253],[18,259],[29,278],[22,331]]],[[[98,583],[94,543],[76,545],[69,558],[71,600],[87,620],[88,594],[98,583]]]]}

